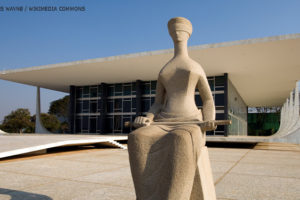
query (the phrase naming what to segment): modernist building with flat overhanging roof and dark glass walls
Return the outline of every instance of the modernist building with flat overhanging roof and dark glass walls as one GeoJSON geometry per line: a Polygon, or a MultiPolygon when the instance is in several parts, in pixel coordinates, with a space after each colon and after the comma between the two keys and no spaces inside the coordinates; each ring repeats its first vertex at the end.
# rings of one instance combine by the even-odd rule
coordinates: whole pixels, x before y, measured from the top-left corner
{"type": "MultiPolygon", "coordinates": [[[[281,106],[300,80],[300,34],[189,47],[204,69],[216,119],[229,126],[212,136],[247,135],[248,107],[281,106]]],[[[124,123],[145,115],[155,99],[160,69],[173,49],[58,63],[0,72],[0,79],[70,94],[75,134],[128,134],[124,123]]],[[[199,92],[195,103],[201,109],[199,92]]]]}

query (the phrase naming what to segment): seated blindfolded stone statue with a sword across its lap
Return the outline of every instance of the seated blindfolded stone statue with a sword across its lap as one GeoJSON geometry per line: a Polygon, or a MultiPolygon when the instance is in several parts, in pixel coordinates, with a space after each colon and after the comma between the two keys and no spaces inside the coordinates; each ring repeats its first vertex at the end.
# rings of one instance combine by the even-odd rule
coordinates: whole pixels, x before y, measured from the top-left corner
{"type": "Polygon", "coordinates": [[[200,200],[204,199],[204,186],[197,162],[205,146],[205,131],[216,128],[214,100],[202,67],[188,56],[191,22],[172,18],[168,29],[174,57],[158,75],[154,104],[146,117],[135,119],[135,126],[140,128],[128,136],[131,173],[137,200],[200,200]],[[203,102],[202,112],[195,104],[196,88],[203,102]],[[203,120],[208,121],[203,128],[196,124],[151,125],[153,121],[203,120]]]}

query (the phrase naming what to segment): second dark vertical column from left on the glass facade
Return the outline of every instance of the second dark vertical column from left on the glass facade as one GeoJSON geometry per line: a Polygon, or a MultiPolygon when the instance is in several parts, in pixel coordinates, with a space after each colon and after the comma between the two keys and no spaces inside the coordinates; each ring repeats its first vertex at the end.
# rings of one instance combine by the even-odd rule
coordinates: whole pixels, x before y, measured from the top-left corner
{"type": "Polygon", "coordinates": [[[98,120],[98,130],[100,130],[101,134],[107,133],[107,96],[108,96],[108,85],[106,83],[100,84],[101,91],[101,99],[98,102],[98,106],[100,106],[100,117],[98,120]]]}

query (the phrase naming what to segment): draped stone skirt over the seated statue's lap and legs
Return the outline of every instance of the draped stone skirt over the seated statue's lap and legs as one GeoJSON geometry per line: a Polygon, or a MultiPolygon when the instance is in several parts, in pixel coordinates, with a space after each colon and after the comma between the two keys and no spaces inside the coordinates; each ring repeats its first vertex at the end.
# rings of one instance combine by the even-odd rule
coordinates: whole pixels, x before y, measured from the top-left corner
{"type": "MultiPolygon", "coordinates": [[[[202,114],[160,113],[155,121],[202,121],[202,114]]],[[[129,134],[128,151],[137,200],[198,200],[197,170],[204,145],[198,125],[150,125],[129,134]]]]}

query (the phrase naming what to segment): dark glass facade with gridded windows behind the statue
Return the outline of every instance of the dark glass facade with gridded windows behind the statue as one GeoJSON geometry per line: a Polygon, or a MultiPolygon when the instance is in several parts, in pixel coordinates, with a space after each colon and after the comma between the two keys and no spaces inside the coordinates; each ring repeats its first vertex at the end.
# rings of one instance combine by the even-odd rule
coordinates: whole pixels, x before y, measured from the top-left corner
{"type": "MultiPolygon", "coordinates": [[[[208,77],[215,100],[216,119],[225,119],[227,76],[208,77]]],[[[124,127],[126,121],[145,115],[155,99],[156,81],[71,86],[72,102],[70,123],[72,133],[128,134],[132,128],[124,127]]],[[[195,101],[202,107],[199,92],[195,101]]],[[[224,126],[207,132],[207,135],[224,135],[224,126]]]]}

